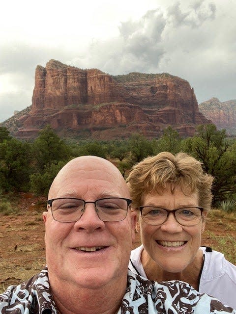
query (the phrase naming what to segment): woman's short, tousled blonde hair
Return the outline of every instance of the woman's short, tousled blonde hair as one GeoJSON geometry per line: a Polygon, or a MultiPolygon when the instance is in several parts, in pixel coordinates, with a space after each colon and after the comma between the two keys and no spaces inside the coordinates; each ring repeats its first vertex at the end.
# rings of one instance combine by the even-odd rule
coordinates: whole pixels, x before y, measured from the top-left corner
{"type": "Polygon", "coordinates": [[[198,193],[199,206],[208,211],[211,206],[213,177],[204,173],[202,164],[185,153],[174,156],[162,152],[147,157],[133,166],[126,182],[128,183],[132,207],[142,206],[142,197],[146,193],[166,189],[171,184],[172,190],[179,186],[183,193],[198,193]]]}

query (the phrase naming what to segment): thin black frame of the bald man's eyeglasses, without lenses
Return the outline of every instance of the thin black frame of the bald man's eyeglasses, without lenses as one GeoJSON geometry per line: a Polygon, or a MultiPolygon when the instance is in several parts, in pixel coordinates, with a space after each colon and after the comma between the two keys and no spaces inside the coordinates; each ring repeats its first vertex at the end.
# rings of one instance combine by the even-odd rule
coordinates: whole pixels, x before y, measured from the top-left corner
{"type": "Polygon", "coordinates": [[[99,198],[99,199],[97,199],[97,200],[94,201],[94,202],[92,202],[92,201],[86,202],[85,200],[82,200],[82,199],[76,198],[76,197],[59,197],[59,198],[53,198],[53,199],[47,200],[47,205],[49,205],[49,207],[51,208],[51,212],[52,212],[53,219],[56,220],[56,221],[65,222],[65,223],[66,223],[66,222],[76,222],[76,221],[80,220],[80,218],[77,219],[77,220],[73,220],[73,221],[60,221],[60,220],[57,220],[57,219],[54,217],[54,215],[53,215],[53,206],[52,206],[52,205],[53,205],[53,201],[55,201],[55,200],[64,200],[64,199],[67,199],[67,200],[78,200],[78,201],[82,201],[82,202],[84,203],[84,206],[83,206],[83,209],[82,209],[82,214],[81,214],[80,218],[83,216],[83,214],[84,214],[84,212],[85,212],[85,206],[86,206],[86,204],[89,204],[89,203],[90,203],[90,204],[94,204],[95,211],[96,211],[97,216],[98,216],[98,218],[99,218],[100,220],[102,220],[102,219],[99,217],[98,209],[97,209],[97,207],[96,207],[96,203],[97,203],[98,201],[110,200],[110,199],[121,199],[121,200],[125,200],[125,201],[127,202],[127,209],[126,209],[126,214],[125,214],[124,218],[122,218],[122,219],[120,219],[120,220],[113,220],[113,221],[102,220],[102,221],[104,221],[104,222],[117,222],[117,221],[122,221],[122,220],[124,220],[124,219],[126,218],[126,216],[127,216],[128,209],[130,209],[130,204],[132,203],[132,200],[130,200],[130,199],[128,199],[128,198],[124,198],[124,197],[104,197],[104,198],[99,198]]]}

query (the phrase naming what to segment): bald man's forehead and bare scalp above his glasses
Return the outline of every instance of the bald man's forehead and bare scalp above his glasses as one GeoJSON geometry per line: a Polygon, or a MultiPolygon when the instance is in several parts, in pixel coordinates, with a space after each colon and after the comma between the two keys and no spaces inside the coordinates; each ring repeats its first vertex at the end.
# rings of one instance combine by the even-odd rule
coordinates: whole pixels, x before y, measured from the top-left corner
{"type": "Polygon", "coordinates": [[[60,197],[75,197],[85,194],[89,188],[103,197],[127,193],[128,187],[115,165],[102,158],[88,158],[81,162],[83,159],[77,162],[76,158],[59,171],[50,188],[50,197],[59,197],[58,194],[60,197]]]}

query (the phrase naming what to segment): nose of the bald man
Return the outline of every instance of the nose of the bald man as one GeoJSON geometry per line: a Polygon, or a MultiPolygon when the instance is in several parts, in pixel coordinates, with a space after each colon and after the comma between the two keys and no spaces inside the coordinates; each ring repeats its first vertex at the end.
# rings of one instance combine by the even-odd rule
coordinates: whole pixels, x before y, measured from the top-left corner
{"type": "Polygon", "coordinates": [[[103,230],[105,228],[105,223],[98,217],[95,204],[87,203],[85,204],[82,216],[75,222],[74,227],[76,229],[84,229],[88,232],[92,232],[97,229],[103,230]]]}

